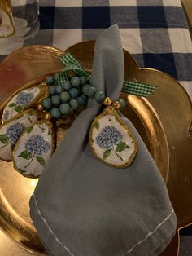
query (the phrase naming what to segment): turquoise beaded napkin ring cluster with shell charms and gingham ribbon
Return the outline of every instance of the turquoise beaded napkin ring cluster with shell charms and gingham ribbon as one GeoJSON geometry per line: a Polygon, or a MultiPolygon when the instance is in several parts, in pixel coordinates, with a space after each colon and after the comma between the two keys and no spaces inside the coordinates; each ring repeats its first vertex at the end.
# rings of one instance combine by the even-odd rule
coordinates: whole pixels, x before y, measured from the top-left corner
{"type": "MultiPolygon", "coordinates": [[[[119,115],[125,107],[124,99],[112,102],[96,90],[89,73],[70,53],[63,55],[61,61],[66,66],[60,73],[20,91],[7,103],[0,126],[0,158],[13,161],[15,170],[24,177],[38,178],[55,150],[55,121],[81,112],[88,99],[94,99],[106,106],[94,118],[89,131],[94,156],[111,166],[129,166],[137,153],[137,141],[119,115]]],[[[124,81],[122,91],[146,97],[155,88],[124,81]]]]}

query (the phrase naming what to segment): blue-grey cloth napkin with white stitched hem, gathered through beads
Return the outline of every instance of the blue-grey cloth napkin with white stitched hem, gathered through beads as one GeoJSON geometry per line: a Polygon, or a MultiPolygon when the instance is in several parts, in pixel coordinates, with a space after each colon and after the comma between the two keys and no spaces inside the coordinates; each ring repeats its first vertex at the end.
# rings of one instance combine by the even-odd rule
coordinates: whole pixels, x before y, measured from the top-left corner
{"type": "MultiPolygon", "coordinates": [[[[112,100],[124,80],[124,55],[116,25],[95,45],[91,81],[112,100]]],[[[155,162],[132,123],[137,156],[125,169],[98,161],[89,128],[101,105],[89,101],[41,174],[30,215],[54,256],[158,255],[172,240],[177,218],[155,162]]]]}

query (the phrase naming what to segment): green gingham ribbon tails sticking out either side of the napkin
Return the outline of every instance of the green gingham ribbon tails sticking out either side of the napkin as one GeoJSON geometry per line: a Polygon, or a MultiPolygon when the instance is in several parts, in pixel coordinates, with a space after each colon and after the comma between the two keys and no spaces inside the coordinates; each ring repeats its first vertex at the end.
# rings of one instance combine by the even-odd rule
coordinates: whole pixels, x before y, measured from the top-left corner
{"type": "MultiPolygon", "coordinates": [[[[68,80],[68,70],[72,70],[79,76],[85,76],[90,79],[89,73],[85,71],[85,69],[79,64],[76,58],[70,53],[66,52],[60,60],[66,67],[59,73],[57,77],[57,81],[59,84],[63,84],[63,82],[68,80]]],[[[132,82],[132,81],[124,81],[122,92],[128,93],[129,95],[137,95],[141,97],[146,97],[151,95],[155,91],[157,86],[149,85],[142,82],[132,82]]]]}

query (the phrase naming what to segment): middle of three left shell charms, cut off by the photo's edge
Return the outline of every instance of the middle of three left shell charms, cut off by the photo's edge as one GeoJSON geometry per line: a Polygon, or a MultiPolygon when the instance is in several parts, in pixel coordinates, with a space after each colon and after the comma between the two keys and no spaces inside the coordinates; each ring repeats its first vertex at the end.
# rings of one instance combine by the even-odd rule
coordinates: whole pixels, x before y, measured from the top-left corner
{"type": "Polygon", "coordinates": [[[37,111],[28,109],[0,126],[0,158],[11,161],[12,150],[20,135],[37,121],[37,111]]]}

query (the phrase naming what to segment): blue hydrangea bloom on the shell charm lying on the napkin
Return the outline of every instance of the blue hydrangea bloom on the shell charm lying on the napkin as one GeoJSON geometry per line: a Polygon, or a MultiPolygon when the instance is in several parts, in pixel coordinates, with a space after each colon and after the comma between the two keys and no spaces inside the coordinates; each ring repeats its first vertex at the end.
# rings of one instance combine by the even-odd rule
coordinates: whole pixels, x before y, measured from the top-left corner
{"type": "Polygon", "coordinates": [[[119,143],[122,139],[123,135],[119,130],[116,130],[116,127],[105,126],[95,140],[100,148],[111,148],[119,143]]]}

